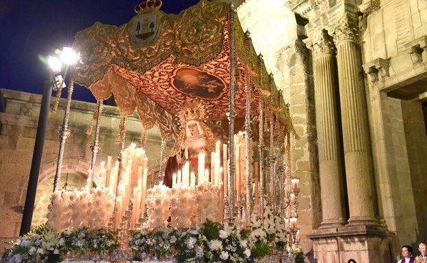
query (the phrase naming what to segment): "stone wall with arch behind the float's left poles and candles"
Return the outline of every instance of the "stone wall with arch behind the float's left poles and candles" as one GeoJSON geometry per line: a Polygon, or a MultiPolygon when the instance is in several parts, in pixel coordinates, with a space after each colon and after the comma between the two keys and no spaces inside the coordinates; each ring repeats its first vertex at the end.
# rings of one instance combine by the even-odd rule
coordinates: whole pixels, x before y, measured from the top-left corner
{"type": "MultiPolygon", "coordinates": [[[[3,111],[0,113],[0,214],[3,216],[0,223],[0,254],[3,254],[5,242],[19,236],[21,229],[42,96],[9,89],[0,89],[0,92],[3,104],[3,111]]],[[[53,191],[53,177],[60,147],[59,130],[62,128],[65,105],[66,100],[61,99],[57,112],[49,115],[33,224],[42,223],[45,220],[49,197],[53,191]]],[[[94,103],[89,102],[73,101],[71,103],[68,122],[71,133],[65,143],[59,188],[64,185],[66,174],[73,175],[68,182],[71,186],[75,185],[76,180],[86,184],[87,171],[92,158],[90,144],[94,142],[94,132],[87,135],[85,131],[92,120],[95,106],[94,103]]],[[[99,137],[101,149],[97,154],[95,167],[99,167],[101,161],[106,161],[107,156],[112,156],[113,159],[118,156],[120,145],[116,143],[116,137],[119,124],[118,109],[104,105],[99,137]]],[[[137,147],[141,147],[142,131],[138,117],[136,115],[128,117],[125,146],[133,142],[137,147]]],[[[156,176],[160,145],[158,130],[150,130],[146,145],[148,169],[155,169],[156,176]]],[[[166,148],[167,152],[168,150],[170,146],[166,148]]]]}

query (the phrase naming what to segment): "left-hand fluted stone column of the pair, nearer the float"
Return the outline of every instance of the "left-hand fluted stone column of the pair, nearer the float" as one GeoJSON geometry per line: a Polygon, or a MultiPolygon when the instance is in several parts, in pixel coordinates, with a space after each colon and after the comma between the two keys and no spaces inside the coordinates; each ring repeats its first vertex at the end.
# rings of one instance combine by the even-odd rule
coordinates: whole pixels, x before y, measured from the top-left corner
{"type": "Polygon", "coordinates": [[[306,43],[313,51],[314,60],[315,112],[322,201],[320,228],[341,227],[346,222],[346,213],[335,100],[334,46],[324,31],[306,43]]]}

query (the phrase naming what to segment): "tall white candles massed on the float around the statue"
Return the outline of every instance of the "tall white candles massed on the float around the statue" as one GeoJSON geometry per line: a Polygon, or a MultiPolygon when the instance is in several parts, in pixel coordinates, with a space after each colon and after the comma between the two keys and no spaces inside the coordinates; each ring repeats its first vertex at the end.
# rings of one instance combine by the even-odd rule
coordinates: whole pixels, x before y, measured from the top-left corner
{"type": "MultiPolygon", "coordinates": [[[[242,198],[242,188],[246,185],[246,164],[244,159],[246,158],[246,151],[242,150],[244,146],[244,134],[240,133],[235,138],[235,176],[234,176],[234,193],[237,201],[242,198]]],[[[116,161],[115,165],[112,166],[112,156],[107,157],[107,162],[102,161],[99,167],[99,176],[96,184],[98,186],[105,186],[112,189],[114,195],[116,195],[116,206],[114,213],[114,229],[116,230],[122,221],[122,216],[126,210],[129,209],[129,204],[132,204],[132,213],[130,223],[131,226],[138,223],[140,215],[144,215],[146,210],[146,193],[150,186],[153,186],[154,182],[154,171],[151,171],[151,185],[147,185],[148,180],[148,158],[144,150],[134,149],[134,151],[123,151],[121,153],[121,163],[116,161]],[[138,150],[138,151],[137,151],[138,150]],[[129,156],[128,156],[128,154],[129,156]],[[135,152],[138,152],[135,154],[135,152]],[[122,164],[122,165],[120,165],[122,164]],[[135,169],[136,168],[136,169],[135,169]],[[135,180],[138,178],[138,180],[135,180]],[[132,189],[133,187],[133,189],[132,189]],[[131,202],[132,201],[132,202],[131,202]]],[[[187,187],[196,187],[196,185],[204,182],[211,182],[214,186],[218,186],[220,195],[220,211],[224,210],[223,199],[224,196],[228,195],[228,146],[222,144],[220,141],[216,142],[215,152],[211,152],[211,165],[210,169],[205,169],[205,154],[201,153],[198,156],[198,170],[197,174],[190,174],[190,165],[185,163],[181,171],[172,176],[172,188],[181,185],[187,187]],[[222,150],[222,159],[221,151],[222,150]]],[[[255,182],[253,184],[253,190],[255,191],[255,202],[258,201],[257,190],[258,180],[257,174],[255,174],[255,182]]],[[[90,189],[94,181],[93,171],[88,171],[88,180],[86,187],[90,189]]]]}

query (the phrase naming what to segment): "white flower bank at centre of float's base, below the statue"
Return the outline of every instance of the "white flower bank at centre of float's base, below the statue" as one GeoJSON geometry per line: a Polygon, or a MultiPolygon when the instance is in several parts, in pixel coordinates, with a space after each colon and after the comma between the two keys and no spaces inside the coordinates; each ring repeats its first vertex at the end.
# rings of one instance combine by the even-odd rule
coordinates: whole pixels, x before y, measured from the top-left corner
{"type": "Polygon", "coordinates": [[[187,229],[136,230],[131,234],[129,247],[135,260],[173,257],[184,263],[246,263],[249,258],[262,258],[270,253],[268,243],[253,239],[250,230],[209,219],[187,229]]]}

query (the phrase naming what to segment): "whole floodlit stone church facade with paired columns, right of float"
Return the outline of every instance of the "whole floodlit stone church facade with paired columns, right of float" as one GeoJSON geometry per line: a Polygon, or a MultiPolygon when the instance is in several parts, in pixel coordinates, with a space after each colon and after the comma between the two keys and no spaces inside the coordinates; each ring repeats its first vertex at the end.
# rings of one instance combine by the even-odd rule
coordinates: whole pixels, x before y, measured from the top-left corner
{"type": "Polygon", "coordinates": [[[238,12],[302,136],[300,245],[313,262],[395,262],[426,238],[427,2],[280,2],[238,12]]]}

